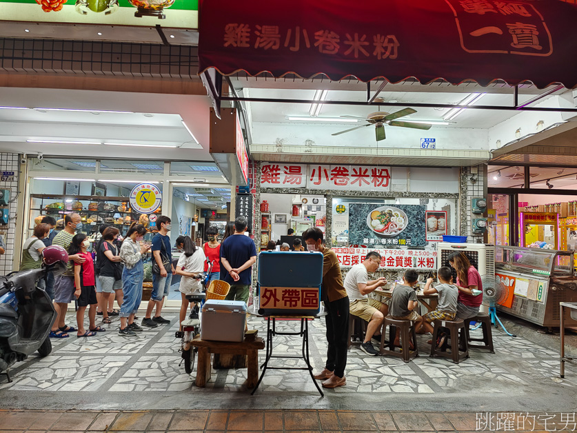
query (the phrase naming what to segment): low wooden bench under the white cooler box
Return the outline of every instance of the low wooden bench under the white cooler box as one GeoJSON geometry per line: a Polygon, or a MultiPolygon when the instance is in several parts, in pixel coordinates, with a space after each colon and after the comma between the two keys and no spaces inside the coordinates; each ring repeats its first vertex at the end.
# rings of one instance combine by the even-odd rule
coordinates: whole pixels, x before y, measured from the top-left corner
{"type": "Polygon", "coordinates": [[[265,348],[265,341],[260,337],[254,341],[242,341],[234,343],[231,341],[205,341],[197,336],[190,342],[199,348],[199,361],[196,365],[196,386],[205,387],[210,381],[210,354],[230,354],[247,356],[247,387],[254,388],[259,381],[259,350],[265,348]]]}

